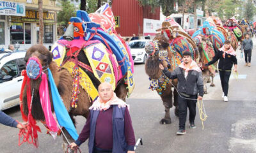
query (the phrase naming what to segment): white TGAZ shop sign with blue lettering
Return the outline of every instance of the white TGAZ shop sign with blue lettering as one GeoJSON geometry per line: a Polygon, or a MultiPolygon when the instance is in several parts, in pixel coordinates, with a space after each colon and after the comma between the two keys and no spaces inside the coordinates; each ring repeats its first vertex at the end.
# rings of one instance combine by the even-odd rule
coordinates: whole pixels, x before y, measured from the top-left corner
{"type": "Polygon", "coordinates": [[[0,1],[0,15],[25,16],[25,3],[0,1]]]}

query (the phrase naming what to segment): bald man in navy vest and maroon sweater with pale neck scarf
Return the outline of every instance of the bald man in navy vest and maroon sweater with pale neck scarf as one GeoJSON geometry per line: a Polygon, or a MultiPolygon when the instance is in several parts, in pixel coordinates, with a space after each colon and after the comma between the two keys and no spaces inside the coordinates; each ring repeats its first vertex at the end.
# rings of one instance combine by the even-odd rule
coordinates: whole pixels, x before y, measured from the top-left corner
{"type": "Polygon", "coordinates": [[[116,97],[109,83],[98,87],[99,98],[89,108],[83,130],[71,148],[89,138],[89,153],[135,153],[135,136],[127,104],[116,97]]]}

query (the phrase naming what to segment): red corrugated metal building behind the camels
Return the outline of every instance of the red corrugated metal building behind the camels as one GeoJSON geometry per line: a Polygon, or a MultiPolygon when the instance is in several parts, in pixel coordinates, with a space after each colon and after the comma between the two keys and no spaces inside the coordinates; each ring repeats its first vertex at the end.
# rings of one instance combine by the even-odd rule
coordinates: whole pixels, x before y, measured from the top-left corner
{"type": "MultiPolygon", "coordinates": [[[[121,36],[132,36],[132,34],[143,36],[143,27],[146,24],[144,18],[153,19],[154,22],[160,19],[159,7],[151,11],[149,6],[140,6],[138,0],[113,0],[112,10],[114,16],[118,19],[116,31],[121,36]]],[[[153,20],[152,23],[148,23],[148,26],[154,26],[153,20]]]]}

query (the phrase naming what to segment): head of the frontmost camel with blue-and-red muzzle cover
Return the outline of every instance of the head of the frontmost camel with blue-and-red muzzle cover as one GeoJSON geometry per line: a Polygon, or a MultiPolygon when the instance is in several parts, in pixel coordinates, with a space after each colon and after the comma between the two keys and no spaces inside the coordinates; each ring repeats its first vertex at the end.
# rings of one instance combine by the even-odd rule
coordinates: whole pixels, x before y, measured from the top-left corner
{"type": "Polygon", "coordinates": [[[25,56],[27,75],[34,80],[40,77],[42,70],[47,69],[52,62],[52,53],[44,45],[33,45],[25,56]]]}

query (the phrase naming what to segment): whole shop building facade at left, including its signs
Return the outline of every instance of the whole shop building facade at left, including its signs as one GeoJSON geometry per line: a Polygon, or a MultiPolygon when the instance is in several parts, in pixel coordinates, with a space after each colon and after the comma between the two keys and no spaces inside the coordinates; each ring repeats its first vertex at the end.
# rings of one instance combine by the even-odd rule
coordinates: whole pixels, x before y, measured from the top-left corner
{"type": "MultiPolygon", "coordinates": [[[[45,47],[57,40],[57,11],[55,1],[43,1],[45,47]]],[[[38,43],[38,0],[0,1],[0,48],[20,44],[19,50],[27,50],[38,43]]]]}

